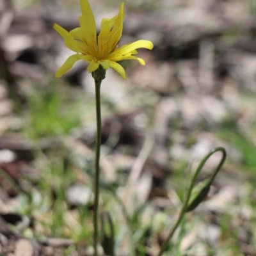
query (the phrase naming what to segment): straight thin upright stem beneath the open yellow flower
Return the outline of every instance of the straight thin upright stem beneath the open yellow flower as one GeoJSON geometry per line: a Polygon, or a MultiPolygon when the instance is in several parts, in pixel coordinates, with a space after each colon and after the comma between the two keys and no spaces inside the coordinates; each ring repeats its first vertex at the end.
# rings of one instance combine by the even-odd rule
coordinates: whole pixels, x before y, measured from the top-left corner
{"type": "Polygon", "coordinates": [[[96,101],[96,118],[97,118],[97,138],[95,150],[95,184],[94,184],[94,212],[93,212],[93,247],[94,255],[97,256],[98,240],[98,208],[99,208],[99,178],[100,178],[100,144],[101,144],[101,114],[100,114],[100,84],[102,79],[95,79],[95,101],[96,101]]]}

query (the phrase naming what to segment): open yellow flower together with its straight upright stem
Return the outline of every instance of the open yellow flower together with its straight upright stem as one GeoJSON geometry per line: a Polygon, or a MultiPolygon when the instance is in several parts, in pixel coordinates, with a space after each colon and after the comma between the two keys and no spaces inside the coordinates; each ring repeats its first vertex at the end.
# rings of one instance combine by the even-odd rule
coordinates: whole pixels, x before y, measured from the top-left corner
{"type": "MultiPolygon", "coordinates": [[[[138,60],[141,65],[145,61],[134,56],[138,48],[152,49],[153,44],[148,40],[138,40],[132,44],[118,47],[118,42],[123,32],[124,3],[121,4],[118,15],[112,19],[103,19],[100,33],[97,36],[95,18],[88,0],[80,0],[82,16],[79,18],[81,28],[73,29],[68,33],[58,24],[54,29],[64,38],[65,45],[76,54],[70,56],[65,63],[56,71],[56,77],[65,74],[78,60],[89,63],[87,70],[92,73],[95,80],[95,102],[97,117],[97,139],[95,150],[95,193],[94,193],[94,255],[98,255],[98,207],[99,207],[99,179],[100,179],[100,145],[101,145],[101,113],[100,113],[100,85],[105,78],[106,70],[113,68],[126,79],[124,68],[118,64],[122,60],[138,60]]],[[[113,250],[111,250],[113,251],[113,250]]],[[[108,248],[109,252],[109,248],[108,248]]]]}

